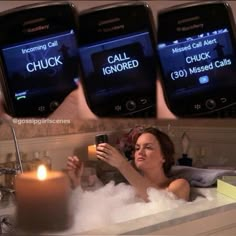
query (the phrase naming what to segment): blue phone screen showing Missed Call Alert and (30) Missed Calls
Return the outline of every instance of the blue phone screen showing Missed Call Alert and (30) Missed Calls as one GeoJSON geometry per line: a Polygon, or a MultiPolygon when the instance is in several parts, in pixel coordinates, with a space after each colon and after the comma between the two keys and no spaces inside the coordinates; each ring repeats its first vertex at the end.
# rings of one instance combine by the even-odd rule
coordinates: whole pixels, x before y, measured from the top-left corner
{"type": "Polygon", "coordinates": [[[170,97],[236,85],[236,60],[227,28],[157,46],[170,97]]]}

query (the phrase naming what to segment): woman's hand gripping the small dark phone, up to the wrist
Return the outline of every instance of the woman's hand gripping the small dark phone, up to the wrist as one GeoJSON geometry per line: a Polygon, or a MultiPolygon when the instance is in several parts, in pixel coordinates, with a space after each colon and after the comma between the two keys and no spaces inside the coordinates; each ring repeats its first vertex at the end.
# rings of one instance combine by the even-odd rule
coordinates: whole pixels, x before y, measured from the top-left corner
{"type": "Polygon", "coordinates": [[[123,166],[127,160],[122,154],[108,143],[100,143],[97,146],[97,158],[105,161],[109,165],[116,167],[118,170],[123,166]]]}

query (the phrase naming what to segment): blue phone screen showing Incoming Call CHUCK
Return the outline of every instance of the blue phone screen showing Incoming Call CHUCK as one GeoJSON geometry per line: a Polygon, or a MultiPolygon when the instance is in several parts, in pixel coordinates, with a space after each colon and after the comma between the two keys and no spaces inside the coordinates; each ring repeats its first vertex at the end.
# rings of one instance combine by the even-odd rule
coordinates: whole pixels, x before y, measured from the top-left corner
{"type": "Polygon", "coordinates": [[[78,47],[73,30],[8,45],[1,51],[16,101],[72,88],[78,80],[78,47]]]}

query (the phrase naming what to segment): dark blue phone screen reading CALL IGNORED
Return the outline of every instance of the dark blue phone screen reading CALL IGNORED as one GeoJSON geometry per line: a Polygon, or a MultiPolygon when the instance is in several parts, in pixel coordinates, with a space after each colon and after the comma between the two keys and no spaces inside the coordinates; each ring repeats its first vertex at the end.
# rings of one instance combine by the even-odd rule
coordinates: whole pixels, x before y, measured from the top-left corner
{"type": "Polygon", "coordinates": [[[154,52],[148,32],[86,45],[79,53],[93,104],[107,101],[107,96],[155,89],[154,52]]]}

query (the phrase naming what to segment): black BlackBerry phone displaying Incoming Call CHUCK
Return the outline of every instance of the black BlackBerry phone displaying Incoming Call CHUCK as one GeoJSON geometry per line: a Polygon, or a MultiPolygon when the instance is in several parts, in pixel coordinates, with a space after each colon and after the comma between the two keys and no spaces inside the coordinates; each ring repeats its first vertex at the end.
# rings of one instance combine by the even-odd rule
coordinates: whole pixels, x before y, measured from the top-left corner
{"type": "Polygon", "coordinates": [[[1,87],[15,117],[42,117],[77,87],[78,12],[66,2],[0,14],[1,87]]]}

